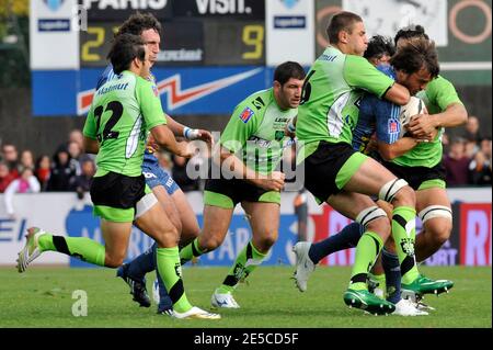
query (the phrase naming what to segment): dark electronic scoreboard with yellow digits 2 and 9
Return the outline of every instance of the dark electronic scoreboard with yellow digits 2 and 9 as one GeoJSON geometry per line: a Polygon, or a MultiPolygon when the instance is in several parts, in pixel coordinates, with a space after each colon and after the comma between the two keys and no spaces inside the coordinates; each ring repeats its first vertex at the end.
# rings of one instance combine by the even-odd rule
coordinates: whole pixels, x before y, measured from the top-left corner
{"type": "Polygon", "coordinates": [[[114,33],[136,11],[162,25],[157,67],[264,66],[263,0],[80,0],[88,14],[80,32],[80,66],[107,65],[114,33]]]}

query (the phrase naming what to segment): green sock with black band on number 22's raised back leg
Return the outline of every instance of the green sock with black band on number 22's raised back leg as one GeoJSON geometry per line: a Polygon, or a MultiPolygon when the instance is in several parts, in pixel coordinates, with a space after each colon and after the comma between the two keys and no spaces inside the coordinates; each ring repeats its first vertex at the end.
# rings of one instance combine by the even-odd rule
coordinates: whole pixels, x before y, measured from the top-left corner
{"type": "Polygon", "coordinates": [[[39,236],[38,245],[42,251],[58,251],[82,261],[104,267],[104,246],[90,238],[45,234],[39,236]]]}

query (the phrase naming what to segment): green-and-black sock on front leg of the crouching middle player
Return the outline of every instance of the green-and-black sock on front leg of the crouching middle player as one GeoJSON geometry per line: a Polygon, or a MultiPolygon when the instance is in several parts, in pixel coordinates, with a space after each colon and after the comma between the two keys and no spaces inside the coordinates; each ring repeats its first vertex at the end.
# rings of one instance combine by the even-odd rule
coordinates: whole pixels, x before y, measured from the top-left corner
{"type": "Polygon", "coordinates": [[[246,279],[246,276],[262,263],[266,253],[262,253],[249,241],[246,246],[240,251],[234,261],[234,264],[229,269],[228,275],[218,289],[219,293],[231,293],[237,286],[238,282],[246,279]]]}

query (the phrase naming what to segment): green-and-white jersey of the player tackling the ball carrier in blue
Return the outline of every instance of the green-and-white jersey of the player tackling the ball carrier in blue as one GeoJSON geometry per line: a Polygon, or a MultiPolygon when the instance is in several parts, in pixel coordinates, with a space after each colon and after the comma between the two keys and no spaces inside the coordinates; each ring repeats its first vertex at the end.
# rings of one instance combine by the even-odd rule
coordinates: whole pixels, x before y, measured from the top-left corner
{"type": "Polygon", "coordinates": [[[351,145],[363,92],[381,98],[393,83],[364,57],[345,55],[329,46],[308,72],[298,109],[296,136],[309,144],[305,157],[321,140],[351,145]]]}

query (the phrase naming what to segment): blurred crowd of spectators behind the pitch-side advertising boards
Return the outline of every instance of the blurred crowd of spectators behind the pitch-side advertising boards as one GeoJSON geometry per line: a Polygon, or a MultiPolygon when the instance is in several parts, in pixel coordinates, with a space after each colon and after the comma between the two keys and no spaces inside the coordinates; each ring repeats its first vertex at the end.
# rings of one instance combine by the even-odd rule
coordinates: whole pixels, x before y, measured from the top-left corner
{"type": "MultiPolygon", "coordinates": [[[[455,136],[443,135],[448,187],[492,184],[492,139],[481,132],[478,117],[469,116],[467,125],[456,129],[455,136]]],[[[204,189],[207,174],[200,169],[208,168],[205,162],[210,165],[210,154],[203,153],[188,160],[160,151],[158,158],[183,191],[204,189]]],[[[1,145],[0,193],[5,193],[10,215],[14,193],[76,192],[82,199],[94,173],[94,156],[84,153],[79,129],[72,131],[54,155],[35,155],[30,149],[19,153],[14,144],[1,145]]]]}

